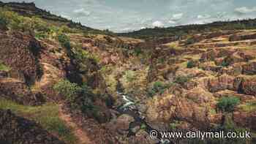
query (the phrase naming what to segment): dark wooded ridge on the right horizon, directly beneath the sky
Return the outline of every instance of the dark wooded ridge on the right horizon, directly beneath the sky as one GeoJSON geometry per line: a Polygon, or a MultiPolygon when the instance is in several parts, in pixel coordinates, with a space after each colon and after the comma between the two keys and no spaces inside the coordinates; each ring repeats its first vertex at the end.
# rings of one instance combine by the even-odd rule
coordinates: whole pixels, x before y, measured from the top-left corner
{"type": "Polygon", "coordinates": [[[221,30],[255,29],[256,19],[217,21],[208,24],[193,24],[187,26],[174,26],[169,28],[141,29],[128,33],[120,33],[118,36],[135,37],[140,39],[154,39],[159,37],[186,36],[187,34],[199,34],[202,32],[221,30]]]}

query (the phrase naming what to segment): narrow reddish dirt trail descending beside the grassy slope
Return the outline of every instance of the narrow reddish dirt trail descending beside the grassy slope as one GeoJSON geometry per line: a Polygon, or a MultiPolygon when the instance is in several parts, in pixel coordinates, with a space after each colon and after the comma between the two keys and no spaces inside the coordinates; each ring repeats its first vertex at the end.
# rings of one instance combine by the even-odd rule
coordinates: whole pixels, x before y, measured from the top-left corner
{"type": "Polygon", "coordinates": [[[75,124],[75,122],[72,121],[71,116],[67,113],[64,113],[64,110],[62,110],[61,106],[59,108],[59,118],[61,118],[61,120],[63,120],[67,124],[67,126],[70,126],[73,129],[75,136],[78,137],[78,144],[95,144],[93,141],[90,140],[88,134],[80,129],[78,124],[75,124]]]}

